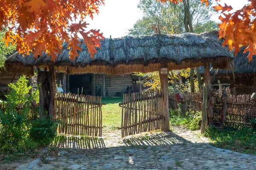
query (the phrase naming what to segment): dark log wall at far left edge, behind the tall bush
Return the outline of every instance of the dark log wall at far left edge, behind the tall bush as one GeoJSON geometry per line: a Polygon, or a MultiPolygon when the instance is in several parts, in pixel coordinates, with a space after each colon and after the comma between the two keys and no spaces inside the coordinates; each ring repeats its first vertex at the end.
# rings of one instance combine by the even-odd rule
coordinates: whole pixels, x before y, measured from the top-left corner
{"type": "Polygon", "coordinates": [[[0,99],[6,99],[4,93],[7,93],[7,91],[9,90],[9,83],[17,82],[19,78],[20,74],[8,73],[3,69],[0,69],[0,99]]]}

